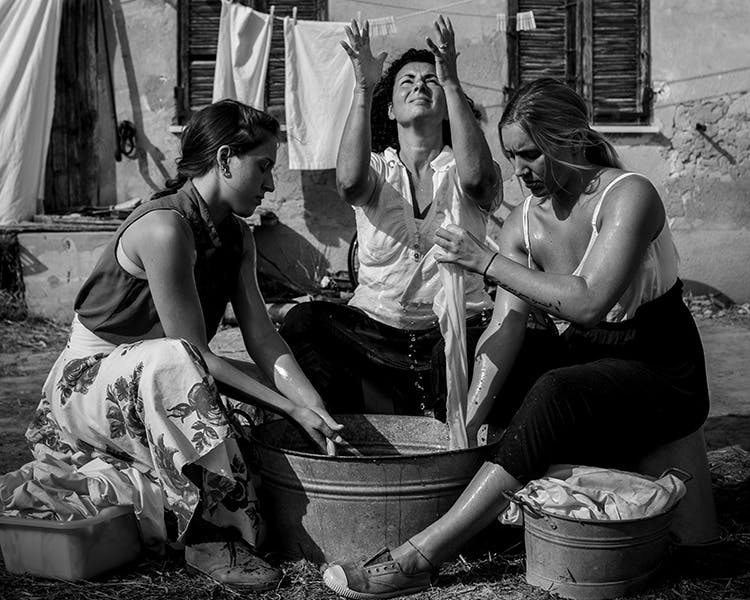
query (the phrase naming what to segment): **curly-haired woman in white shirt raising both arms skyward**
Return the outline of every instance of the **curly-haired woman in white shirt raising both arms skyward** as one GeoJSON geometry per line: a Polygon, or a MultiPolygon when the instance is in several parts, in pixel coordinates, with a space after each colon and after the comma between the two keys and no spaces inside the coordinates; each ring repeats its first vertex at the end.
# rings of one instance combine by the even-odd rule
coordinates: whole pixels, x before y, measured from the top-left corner
{"type": "MultiPolygon", "coordinates": [[[[436,21],[428,50],[408,50],[385,73],[367,23],[352,22],[346,36],[356,87],[336,179],[355,213],[359,282],[347,306],[300,304],[280,332],[332,410],[442,416],[434,236],[453,211],[485,237],[499,167],[461,88],[450,20],[436,21]]],[[[465,286],[471,347],[492,302],[481,275],[469,274],[465,286]]]]}

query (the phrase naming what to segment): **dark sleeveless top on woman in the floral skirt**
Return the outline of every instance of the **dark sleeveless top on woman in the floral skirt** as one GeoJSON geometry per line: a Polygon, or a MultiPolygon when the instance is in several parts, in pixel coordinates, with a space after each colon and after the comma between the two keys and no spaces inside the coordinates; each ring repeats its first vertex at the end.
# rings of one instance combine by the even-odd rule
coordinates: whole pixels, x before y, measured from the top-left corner
{"type": "Polygon", "coordinates": [[[148,281],[125,271],[117,262],[116,250],[120,236],[131,223],[146,213],[165,209],[185,217],[193,232],[193,274],[209,340],[216,334],[237,285],[246,226],[233,215],[214,225],[205,201],[188,181],[175,193],[149,200],[130,214],[76,296],[74,307],[81,323],[108,342],[124,344],[164,337],[148,281]]]}

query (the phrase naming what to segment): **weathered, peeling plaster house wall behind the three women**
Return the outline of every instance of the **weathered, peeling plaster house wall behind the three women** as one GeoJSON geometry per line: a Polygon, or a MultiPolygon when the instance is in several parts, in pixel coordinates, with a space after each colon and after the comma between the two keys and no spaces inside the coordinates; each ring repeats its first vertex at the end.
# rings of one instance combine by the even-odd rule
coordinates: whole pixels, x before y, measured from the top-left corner
{"type": "MultiPolygon", "coordinates": [[[[179,142],[169,126],[177,0],[109,2],[116,30],[118,119],[133,121],[139,135],[136,157],[117,163],[117,199],[122,202],[148,197],[175,170],[179,142]]],[[[439,4],[329,0],[329,19],[393,16],[397,32],[373,40],[374,51],[387,51],[392,58],[423,45],[436,15],[421,11],[439,4]]],[[[495,20],[503,10],[505,2],[471,0],[445,11],[456,28],[462,83],[485,113],[483,128],[503,170],[507,206],[498,212],[500,219],[522,197],[495,131],[507,81],[505,37],[496,31],[495,20]]],[[[610,134],[625,163],[646,174],[662,194],[683,258],[683,277],[742,302],[750,300],[748,22],[745,0],[651,0],[654,131],[610,134]],[[698,123],[704,131],[696,129],[698,123]]],[[[257,231],[259,264],[314,284],[327,271],[346,268],[353,213],[336,195],[333,171],[290,171],[286,164],[282,144],[274,172],[277,187],[265,202],[280,224],[257,231]]]]}

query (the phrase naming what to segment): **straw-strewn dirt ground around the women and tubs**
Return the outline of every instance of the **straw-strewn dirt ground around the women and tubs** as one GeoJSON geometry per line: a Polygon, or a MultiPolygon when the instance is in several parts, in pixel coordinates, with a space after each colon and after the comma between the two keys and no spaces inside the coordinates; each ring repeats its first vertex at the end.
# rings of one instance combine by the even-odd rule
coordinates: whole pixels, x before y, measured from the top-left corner
{"type": "MultiPolygon", "coordinates": [[[[640,600],[750,599],[750,307],[724,309],[694,299],[707,357],[712,407],[705,425],[709,462],[724,541],[712,548],[675,550],[662,582],[640,600]]],[[[67,327],[44,320],[0,320],[0,473],[30,459],[23,433],[39,401],[47,371],[64,346],[67,327]]],[[[236,328],[212,343],[223,353],[244,354],[236,328]]],[[[505,528],[507,529],[507,528],[505,528]]],[[[494,532],[444,569],[438,587],[415,598],[511,600],[550,598],[524,579],[523,539],[494,532]]],[[[305,561],[283,563],[282,588],[263,599],[333,598],[305,561]]],[[[237,598],[238,594],[189,574],[179,555],[144,558],[127,572],[93,583],[51,582],[7,573],[0,564],[0,598],[237,598]]],[[[252,597],[244,594],[243,597],[252,597]]]]}

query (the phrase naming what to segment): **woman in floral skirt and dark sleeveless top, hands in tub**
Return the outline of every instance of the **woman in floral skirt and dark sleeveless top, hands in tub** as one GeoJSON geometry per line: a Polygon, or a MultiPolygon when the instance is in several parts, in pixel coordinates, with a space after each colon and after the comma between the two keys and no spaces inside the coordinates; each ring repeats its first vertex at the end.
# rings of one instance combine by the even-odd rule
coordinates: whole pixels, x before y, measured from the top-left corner
{"type": "Polygon", "coordinates": [[[182,542],[190,567],[242,590],[281,574],[255,553],[263,521],[217,385],[292,419],[322,451],[341,429],[268,318],[242,220],[274,189],[278,133],[234,100],[192,117],[177,177],[125,220],[78,293],[26,434],[37,459],[112,465],[115,503],[134,505],[148,546],[182,542]],[[208,345],[228,301],[262,375],[208,345]]]}

